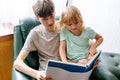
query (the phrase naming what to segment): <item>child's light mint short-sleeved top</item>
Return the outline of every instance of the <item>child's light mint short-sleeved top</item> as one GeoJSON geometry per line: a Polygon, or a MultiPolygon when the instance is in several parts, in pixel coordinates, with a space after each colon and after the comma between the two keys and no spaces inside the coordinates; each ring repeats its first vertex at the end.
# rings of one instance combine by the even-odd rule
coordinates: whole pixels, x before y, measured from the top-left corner
{"type": "Polygon", "coordinates": [[[60,41],[66,41],[67,58],[77,62],[78,60],[87,57],[89,49],[89,39],[95,38],[95,31],[90,27],[86,27],[81,35],[75,36],[66,27],[60,32],[60,41]]]}

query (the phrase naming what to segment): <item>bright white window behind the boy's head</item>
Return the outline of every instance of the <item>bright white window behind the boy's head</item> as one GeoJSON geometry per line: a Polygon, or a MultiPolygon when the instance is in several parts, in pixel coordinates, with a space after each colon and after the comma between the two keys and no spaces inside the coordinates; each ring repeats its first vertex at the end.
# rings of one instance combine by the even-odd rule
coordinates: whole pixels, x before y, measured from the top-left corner
{"type": "MultiPolygon", "coordinates": [[[[13,26],[25,17],[33,17],[32,3],[34,0],[0,0],[0,35],[13,32],[13,26]]],[[[67,0],[53,0],[56,16],[66,7],[67,0]]]]}

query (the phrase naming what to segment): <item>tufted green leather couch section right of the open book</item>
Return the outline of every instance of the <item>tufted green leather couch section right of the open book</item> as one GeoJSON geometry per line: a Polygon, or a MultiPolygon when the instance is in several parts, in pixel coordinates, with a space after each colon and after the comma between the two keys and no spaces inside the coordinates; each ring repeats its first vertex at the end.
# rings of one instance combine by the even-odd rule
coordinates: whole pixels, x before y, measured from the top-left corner
{"type": "Polygon", "coordinates": [[[120,80],[120,54],[102,52],[100,59],[91,75],[92,80],[120,80]]]}

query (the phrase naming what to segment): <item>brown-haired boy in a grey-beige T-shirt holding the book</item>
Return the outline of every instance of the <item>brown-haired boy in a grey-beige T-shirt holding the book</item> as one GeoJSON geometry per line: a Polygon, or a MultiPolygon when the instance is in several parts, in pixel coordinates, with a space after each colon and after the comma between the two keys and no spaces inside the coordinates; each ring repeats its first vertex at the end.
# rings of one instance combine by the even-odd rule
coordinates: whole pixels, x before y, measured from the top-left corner
{"type": "Polygon", "coordinates": [[[46,77],[44,70],[48,59],[60,60],[58,54],[59,32],[55,25],[54,4],[52,0],[36,0],[32,8],[41,25],[30,31],[20,54],[14,62],[14,67],[37,80],[52,80],[50,77],[46,77]],[[29,52],[36,50],[40,57],[39,71],[24,63],[29,52]]]}

